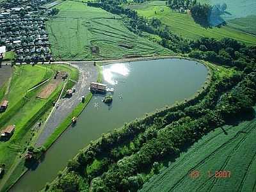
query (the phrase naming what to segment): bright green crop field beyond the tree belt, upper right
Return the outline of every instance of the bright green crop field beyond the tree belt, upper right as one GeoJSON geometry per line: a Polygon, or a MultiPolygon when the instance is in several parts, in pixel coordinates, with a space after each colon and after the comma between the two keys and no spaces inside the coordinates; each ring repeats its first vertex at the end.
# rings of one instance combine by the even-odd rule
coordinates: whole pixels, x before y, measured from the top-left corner
{"type": "Polygon", "coordinates": [[[150,1],[150,3],[146,4],[131,5],[129,8],[136,10],[139,15],[143,15],[149,19],[152,17],[160,19],[163,24],[169,26],[171,31],[185,38],[197,39],[205,36],[220,40],[224,37],[230,37],[244,44],[256,45],[256,36],[244,33],[228,25],[221,28],[203,28],[195,23],[191,15],[170,10],[164,4],[164,1],[150,1]]]}

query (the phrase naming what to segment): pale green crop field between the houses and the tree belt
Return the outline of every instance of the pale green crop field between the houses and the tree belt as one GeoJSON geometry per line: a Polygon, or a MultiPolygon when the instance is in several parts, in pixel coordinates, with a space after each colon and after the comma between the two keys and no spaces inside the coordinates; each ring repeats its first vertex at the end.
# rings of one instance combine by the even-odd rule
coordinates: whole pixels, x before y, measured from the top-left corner
{"type": "Polygon", "coordinates": [[[118,15],[75,1],[54,7],[60,13],[47,21],[47,30],[55,60],[170,54],[160,45],[129,31],[118,15]],[[92,47],[99,50],[92,53],[92,47]]]}

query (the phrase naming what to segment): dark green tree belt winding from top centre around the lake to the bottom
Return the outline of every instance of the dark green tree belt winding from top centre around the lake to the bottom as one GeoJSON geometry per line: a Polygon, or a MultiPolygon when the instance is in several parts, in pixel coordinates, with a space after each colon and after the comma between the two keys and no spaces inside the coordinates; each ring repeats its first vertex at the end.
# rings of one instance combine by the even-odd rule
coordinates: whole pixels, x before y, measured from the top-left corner
{"type": "Polygon", "coordinates": [[[159,164],[175,159],[209,131],[255,115],[256,47],[230,38],[184,39],[160,20],[140,17],[123,3],[103,0],[88,5],[122,15],[134,33],[159,35],[160,44],[178,54],[232,68],[232,73],[220,76],[210,65],[211,83],[194,99],[103,134],[68,162],[67,170],[47,184],[48,191],[138,191],[159,171],[159,164]]]}

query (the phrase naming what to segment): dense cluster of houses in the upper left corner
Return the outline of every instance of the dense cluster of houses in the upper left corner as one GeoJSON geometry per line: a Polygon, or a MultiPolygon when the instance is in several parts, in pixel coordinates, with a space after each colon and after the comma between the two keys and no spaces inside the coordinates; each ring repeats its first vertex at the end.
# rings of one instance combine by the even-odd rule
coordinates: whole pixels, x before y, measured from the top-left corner
{"type": "Polygon", "coordinates": [[[0,5],[0,44],[14,51],[17,63],[52,60],[45,28],[49,10],[40,6],[51,0],[7,0],[0,5]]]}

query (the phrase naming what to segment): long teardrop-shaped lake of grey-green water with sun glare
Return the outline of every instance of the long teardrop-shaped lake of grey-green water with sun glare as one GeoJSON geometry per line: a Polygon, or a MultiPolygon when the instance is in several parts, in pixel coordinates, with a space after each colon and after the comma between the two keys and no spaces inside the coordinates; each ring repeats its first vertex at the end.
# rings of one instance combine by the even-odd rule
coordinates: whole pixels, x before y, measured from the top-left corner
{"type": "Polygon", "coordinates": [[[27,172],[11,191],[44,188],[65,168],[68,159],[102,133],[193,96],[204,84],[207,68],[189,60],[150,60],[105,65],[103,75],[103,83],[115,89],[113,103],[108,106],[102,96],[93,96],[76,126],[69,127],[49,148],[44,161],[27,172]]]}

